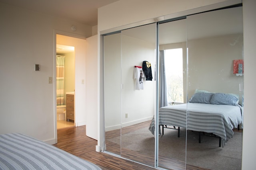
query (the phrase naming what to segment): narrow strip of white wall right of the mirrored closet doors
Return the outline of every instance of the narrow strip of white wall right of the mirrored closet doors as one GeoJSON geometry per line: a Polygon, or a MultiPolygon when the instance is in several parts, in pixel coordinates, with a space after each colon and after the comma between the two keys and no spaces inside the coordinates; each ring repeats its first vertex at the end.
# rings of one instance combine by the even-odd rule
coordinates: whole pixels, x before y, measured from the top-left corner
{"type": "Polygon", "coordinates": [[[244,17],[244,131],[242,169],[256,167],[255,127],[255,83],[256,83],[256,1],[243,0],[244,17]]]}

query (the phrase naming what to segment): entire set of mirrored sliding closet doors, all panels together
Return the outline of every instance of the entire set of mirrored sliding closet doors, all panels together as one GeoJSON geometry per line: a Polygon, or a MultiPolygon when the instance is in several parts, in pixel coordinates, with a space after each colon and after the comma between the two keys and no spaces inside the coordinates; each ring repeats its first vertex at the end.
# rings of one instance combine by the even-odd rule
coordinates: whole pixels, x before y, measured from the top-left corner
{"type": "MultiPolygon", "coordinates": [[[[220,94],[237,98],[234,105],[243,111],[243,83],[242,6],[104,35],[106,151],[162,169],[241,169],[242,121],[231,122],[231,130],[212,123],[218,124],[214,116],[205,121],[216,108],[200,113],[192,125],[190,100],[202,93],[203,100],[194,102],[201,104],[220,94]],[[160,107],[164,106],[183,109],[161,119],[160,107]],[[179,123],[173,126],[168,119],[179,123]]],[[[206,104],[229,107],[220,101],[206,104]]]]}

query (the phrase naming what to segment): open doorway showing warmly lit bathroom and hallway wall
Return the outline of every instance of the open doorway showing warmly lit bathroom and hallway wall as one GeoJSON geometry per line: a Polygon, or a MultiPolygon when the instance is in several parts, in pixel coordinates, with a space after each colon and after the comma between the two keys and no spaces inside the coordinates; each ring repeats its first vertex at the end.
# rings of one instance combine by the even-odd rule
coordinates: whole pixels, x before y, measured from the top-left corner
{"type": "MultiPolygon", "coordinates": [[[[74,37],[74,35],[61,35],[56,33],[56,59],[54,73],[55,86],[59,78],[57,64],[58,58],[63,58],[64,72],[60,77],[64,78],[62,90],[55,88],[54,94],[56,95],[56,130],[59,128],[66,128],[70,126],[86,125],[85,113],[86,106],[83,101],[86,99],[85,95],[85,58],[86,58],[86,39],[83,37],[74,37]],[[58,57],[58,58],[57,58],[58,57]],[[58,102],[58,91],[62,92],[62,102],[58,102]],[[57,116],[57,105],[64,106],[62,115],[57,116]],[[66,108],[65,108],[66,107],[66,108]],[[66,114],[63,114],[66,113],[66,114]],[[60,122],[62,122],[60,126],[60,122]]],[[[62,61],[63,62],[63,61],[62,61]]]]}

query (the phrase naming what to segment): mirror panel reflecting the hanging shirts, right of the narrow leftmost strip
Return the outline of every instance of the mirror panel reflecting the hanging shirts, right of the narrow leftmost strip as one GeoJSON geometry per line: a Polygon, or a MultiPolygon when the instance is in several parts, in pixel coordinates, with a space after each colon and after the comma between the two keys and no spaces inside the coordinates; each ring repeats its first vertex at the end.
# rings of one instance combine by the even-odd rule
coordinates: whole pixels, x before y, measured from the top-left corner
{"type": "Polygon", "coordinates": [[[154,166],[156,23],[122,30],[121,156],[154,166]],[[146,70],[143,72],[143,62],[146,70]],[[135,67],[136,66],[136,67],[135,67]]]}

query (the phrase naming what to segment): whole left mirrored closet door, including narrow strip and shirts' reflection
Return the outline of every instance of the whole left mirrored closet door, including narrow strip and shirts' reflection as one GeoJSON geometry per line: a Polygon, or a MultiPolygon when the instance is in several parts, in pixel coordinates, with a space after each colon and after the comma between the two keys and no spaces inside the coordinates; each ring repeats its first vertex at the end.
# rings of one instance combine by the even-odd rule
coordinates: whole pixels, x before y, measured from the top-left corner
{"type": "Polygon", "coordinates": [[[155,164],[156,23],[104,36],[106,151],[155,164]],[[147,70],[147,74],[145,70],[147,70]]]}

